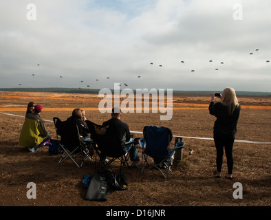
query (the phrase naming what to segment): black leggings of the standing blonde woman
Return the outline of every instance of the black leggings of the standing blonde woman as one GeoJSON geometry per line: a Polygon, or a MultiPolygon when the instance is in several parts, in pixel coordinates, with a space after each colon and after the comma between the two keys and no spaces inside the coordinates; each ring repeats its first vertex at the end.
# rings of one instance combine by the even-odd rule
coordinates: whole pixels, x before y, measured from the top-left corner
{"type": "Polygon", "coordinates": [[[215,147],[217,148],[217,172],[221,172],[223,163],[224,146],[228,165],[228,174],[232,174],[233,157],[232,147],[235,142],[235,137],[221,137],[214,135],[215,147]]]}

